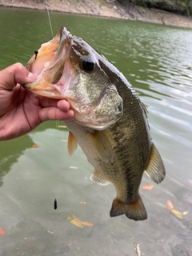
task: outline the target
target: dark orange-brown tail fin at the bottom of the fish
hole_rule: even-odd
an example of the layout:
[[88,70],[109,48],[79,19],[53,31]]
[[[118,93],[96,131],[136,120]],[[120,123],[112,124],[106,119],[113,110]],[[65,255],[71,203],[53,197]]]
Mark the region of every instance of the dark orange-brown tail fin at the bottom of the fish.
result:
[[127,218],[133,219],[134,221],[142,221],[147,218],[146,208],[142,202],[142,198],[138,195],[138,199],[135,202],[126,204],[118,198],[114,198],[110,210],[110,217],[126,214]]

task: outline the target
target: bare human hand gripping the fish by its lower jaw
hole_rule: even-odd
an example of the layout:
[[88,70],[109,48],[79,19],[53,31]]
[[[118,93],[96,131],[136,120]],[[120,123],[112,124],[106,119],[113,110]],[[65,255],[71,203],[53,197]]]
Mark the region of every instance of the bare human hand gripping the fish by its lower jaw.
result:
[[20,63],[0,71],[0,141],[22,136],[47,120],[73,118],[66,100],[38,96],[21,86],[36,79]]

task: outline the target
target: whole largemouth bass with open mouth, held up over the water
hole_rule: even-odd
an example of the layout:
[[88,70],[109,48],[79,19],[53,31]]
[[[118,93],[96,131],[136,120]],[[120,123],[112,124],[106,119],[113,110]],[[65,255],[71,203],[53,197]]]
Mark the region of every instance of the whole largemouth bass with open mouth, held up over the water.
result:
[[94,171],[90,180],[116,190],[110,217],[147,218],[139,194],[144,172],[157,184],[165,166],[150,136],[146,106],[125,76],[82,38],[61,27],[43,43],[26,68],[38,79],[23,85],[36,94],[66,99],[74,118],[68,153],[79,145]]

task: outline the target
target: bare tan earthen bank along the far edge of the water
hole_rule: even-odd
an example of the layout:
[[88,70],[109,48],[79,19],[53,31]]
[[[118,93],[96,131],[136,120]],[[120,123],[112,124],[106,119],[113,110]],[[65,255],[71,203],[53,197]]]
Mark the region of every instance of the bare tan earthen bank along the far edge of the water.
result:
[[[83,14],[105,18],[120,18],[131,21],[150,22],[167,26],[192,29],[192,18],[157,9],[147,9],[133,4],[120,4],[114,0],[47,0],[50,11],[68,14]],[[46,10],[46,1],[0,0],[0,6]]]

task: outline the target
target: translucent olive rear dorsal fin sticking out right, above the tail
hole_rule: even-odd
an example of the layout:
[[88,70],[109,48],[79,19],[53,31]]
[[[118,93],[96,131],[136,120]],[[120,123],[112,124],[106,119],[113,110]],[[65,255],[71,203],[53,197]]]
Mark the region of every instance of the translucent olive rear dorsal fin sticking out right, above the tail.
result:
[[145,172],[157,184],[159,182],[162,182],[162,180],[166,176],[165,166],[154,144],[151,146],[150,160],[148,162],[148,166],[146,167]]

